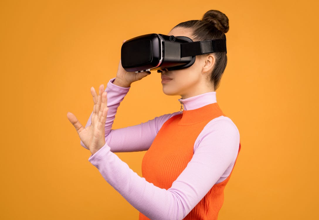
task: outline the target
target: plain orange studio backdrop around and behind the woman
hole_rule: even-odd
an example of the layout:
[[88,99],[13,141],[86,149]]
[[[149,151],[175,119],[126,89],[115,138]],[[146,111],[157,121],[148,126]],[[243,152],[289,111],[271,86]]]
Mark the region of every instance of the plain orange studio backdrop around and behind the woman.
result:
[[[219,219],[314,219],[317,1],[1,1],[1,219],[138,219],[100,175],[66,114],[116,76],[123,40],[167,34],[211,9],[229,18],[216,90],[241,135]],[[316,64],[317,63],[317,64]],[[134,82],[113,129],[180,110],[160,74]],[[317,147],[316,147],[317,146]],[[146,151],[116,153],[140,176]]]

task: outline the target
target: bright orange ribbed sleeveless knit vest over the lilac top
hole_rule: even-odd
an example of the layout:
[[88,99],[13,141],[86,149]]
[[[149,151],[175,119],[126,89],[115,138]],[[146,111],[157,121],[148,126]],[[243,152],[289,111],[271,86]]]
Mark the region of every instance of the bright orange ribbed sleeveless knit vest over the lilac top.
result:
[[[221,115],[226,116],[215,102],[194,110],[184,110],[182,114],[169,118],[143,157],[143,177],[155,186],[169,189],[192,159],[199,133],[208,122]],[[239,144],[238,152],[240,149]],[[184,219],[216,220],[224,202],[224,188],[233,170],[224,181],[215,184]],[[140,212],[139,220],[149,218]]]

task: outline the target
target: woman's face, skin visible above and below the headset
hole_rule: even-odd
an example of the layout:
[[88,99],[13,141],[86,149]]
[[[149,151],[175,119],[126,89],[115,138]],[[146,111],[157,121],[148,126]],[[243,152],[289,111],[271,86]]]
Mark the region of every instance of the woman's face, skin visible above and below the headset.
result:
[[[189,28],[176,27],[167,35],[191,37],[192,30]],[[161,75],[165,75],[172,80],[162,80],[163,92],[166,95],[181,95],[182,99],[186,99],[205,92],[214,91],[213,86],[209,83],[208,72],[203,69],[207,56],[196,56],[195,63],[188,68],[181,70],[160,69]],[[215,59],[213,59],[215,61]],[[211,72],[211,71],[210,71]]]

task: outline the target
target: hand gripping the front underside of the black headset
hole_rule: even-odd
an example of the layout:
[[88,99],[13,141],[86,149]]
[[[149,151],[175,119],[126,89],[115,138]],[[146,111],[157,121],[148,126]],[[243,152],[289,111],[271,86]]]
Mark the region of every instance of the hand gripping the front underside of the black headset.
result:
[[[124,43],[126,40],[124,40],[122,43]],[[118,70],[116,73],[116,78],[113,83],[122,85],[122,87],[130,87],[132,82],[135,82],[137,80],[141,80],[145,76],[148,76],[151,74],[151,71],[147,72],[126,72],[124,68],[122,67],[122,60],[120,59],[120,63],[118,66]],[[115,82],[116,81],[116,82]]]

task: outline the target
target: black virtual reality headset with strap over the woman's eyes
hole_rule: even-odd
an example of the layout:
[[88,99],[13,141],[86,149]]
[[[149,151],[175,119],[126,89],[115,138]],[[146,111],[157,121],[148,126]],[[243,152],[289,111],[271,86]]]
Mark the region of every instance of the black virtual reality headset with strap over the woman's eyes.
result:
[[196,55],[226,52],[226,39],[193,42],[185,36],[145,34],[125,41],[122,66],[127,72],[179,70],[194,64]]

